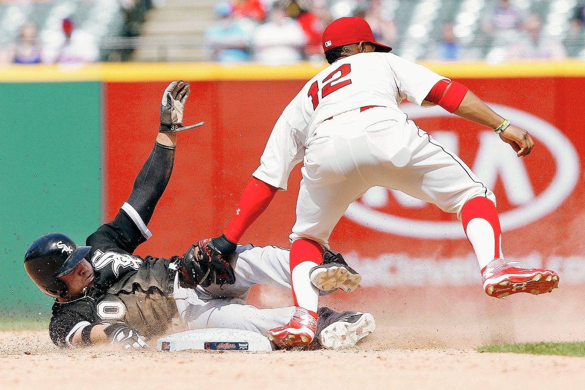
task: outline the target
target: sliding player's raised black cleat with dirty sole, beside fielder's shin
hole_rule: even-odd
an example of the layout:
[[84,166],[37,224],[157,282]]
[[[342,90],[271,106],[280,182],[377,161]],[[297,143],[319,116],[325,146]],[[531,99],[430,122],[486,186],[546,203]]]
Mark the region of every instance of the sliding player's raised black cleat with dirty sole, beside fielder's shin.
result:
[[311,283],[321,291],[342,289],[352,292],[360,287],[362,275],[347,265],[339,252],[327,250],[323,253],[323,263],[309,271]]

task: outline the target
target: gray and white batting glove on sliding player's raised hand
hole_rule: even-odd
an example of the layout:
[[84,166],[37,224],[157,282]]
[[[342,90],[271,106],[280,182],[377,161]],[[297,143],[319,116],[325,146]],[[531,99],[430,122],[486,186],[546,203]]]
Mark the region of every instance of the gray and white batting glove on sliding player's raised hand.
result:
[[164,90],[163,99],[160,102],[159,132],[180,132],[199,127],[205,123],[199,122],[196,125],[183,127],[185,101],[190,93],[189,83],[183,80],[171,82]]

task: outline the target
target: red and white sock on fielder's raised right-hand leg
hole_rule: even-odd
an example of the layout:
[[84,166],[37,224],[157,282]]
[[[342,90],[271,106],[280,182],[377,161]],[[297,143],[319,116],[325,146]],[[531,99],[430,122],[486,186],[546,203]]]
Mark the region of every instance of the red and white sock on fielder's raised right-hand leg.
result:
[[469,199],[461,210],[461,222],[483,273],[490,261],[502,257],[500,218],[494,203],[481,196]]

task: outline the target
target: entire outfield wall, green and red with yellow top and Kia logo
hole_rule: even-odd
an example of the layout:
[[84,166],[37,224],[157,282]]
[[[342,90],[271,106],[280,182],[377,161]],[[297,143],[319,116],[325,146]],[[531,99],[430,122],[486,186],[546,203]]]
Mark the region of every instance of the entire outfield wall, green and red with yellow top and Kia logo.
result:
[[[441,108],[404,106],[494,189],[507,260],[553,267],[563,284],[585,282],[585,202],[579,191],[583,63],[427,65],[467,85],[535,139],[532,154],[518,159],[490,130]],[[152,149],[161,92],[170,80],[191,83],[185,123],[206,124],[179,134],[174,174],[149,226],[154,236],[137,250],[141,255],[182,254],[195,240],[225,229],[273,123],[320,69],[96,64],[3,70],[0,109],[8,143],[0,154],[6,199],[0,207],[8,217],[0,226],[2,317],[48,312],[49,300],[22,268],[26,247],[56,230],[82,244],[115,215]],[[297,167],[288,191],[276,195],[242,242],[288,246],[299,180]],[[386,189],[374,188],[353,203],[331,243],[356,264],[364,287],[467,286],[480,280],[454,216]]]

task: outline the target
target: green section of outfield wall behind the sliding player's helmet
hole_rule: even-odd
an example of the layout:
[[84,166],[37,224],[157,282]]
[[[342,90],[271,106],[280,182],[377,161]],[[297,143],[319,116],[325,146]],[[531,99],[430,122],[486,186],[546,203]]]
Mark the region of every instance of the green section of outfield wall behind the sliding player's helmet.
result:
[[0,322],[50,310],[22,265],[32,241],[61,231],[81,244],[101,225],[100,89],[97,81],[0,84]]

